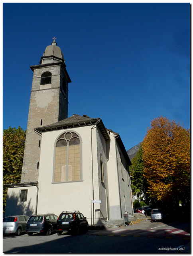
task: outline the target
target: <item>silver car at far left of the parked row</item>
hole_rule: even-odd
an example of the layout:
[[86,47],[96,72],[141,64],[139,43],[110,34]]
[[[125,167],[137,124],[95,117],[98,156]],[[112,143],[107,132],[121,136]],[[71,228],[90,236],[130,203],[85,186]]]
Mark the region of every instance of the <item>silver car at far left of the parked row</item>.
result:
[[15,215],[3,219],[3,234],[20,234],[26,231],[26,222],[29,217],[26,215]]

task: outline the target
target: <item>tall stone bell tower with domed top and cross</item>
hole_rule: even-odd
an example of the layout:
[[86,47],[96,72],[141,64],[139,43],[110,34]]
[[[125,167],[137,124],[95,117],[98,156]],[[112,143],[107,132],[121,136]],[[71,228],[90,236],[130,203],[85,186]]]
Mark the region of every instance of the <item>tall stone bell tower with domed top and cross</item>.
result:
[[21,183],[38,181],[41,137],[34,128],[68,117],[68,83],[71,79],[55,39],[46,47],[39,65],[30,66],[33,81]]

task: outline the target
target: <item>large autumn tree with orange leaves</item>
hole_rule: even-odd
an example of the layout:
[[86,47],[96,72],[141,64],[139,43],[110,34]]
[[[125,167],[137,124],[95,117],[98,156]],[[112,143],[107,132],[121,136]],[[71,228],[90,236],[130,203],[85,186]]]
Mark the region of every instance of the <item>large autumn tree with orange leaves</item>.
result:
[[160,116],[142,142],[144,177],[158,202],[190,200],[190,131]]

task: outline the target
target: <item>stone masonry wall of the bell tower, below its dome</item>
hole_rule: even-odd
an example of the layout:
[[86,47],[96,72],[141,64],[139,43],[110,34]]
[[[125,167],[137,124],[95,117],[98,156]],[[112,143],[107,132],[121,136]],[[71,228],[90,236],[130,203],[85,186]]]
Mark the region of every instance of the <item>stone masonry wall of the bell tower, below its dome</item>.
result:
[[[41,74],[45,71],[52,74],[51,84],[41,86]],[[33,72],[21,183],[38,181],[41,136],[34,132],[34,128],[58,122],[59,112],[67,118],[67,100],[60,93],[61,77],[60,65],[46,68],[39,65]]]

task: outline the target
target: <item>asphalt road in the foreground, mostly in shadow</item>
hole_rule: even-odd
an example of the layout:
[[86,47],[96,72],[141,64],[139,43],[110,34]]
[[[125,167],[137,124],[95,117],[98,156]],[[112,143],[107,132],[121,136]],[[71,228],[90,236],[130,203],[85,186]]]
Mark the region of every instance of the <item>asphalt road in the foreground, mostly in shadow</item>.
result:
[[[163,254],[179,252],[178,246],[181,246],[181,252],[185,252],[190,242],[189,228],[190,224],[187,222],[169,225],[143,222],[124,228],[89,230],[79,236],[71,236],[68,233],[63,233],[61,236],[5,235],[3,253]],[[151,230],[156,230],[156,235]],[[165,230],[170,230],[173,234]]]

